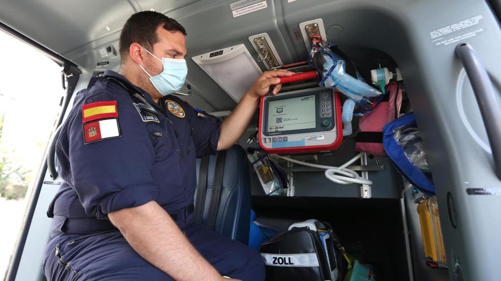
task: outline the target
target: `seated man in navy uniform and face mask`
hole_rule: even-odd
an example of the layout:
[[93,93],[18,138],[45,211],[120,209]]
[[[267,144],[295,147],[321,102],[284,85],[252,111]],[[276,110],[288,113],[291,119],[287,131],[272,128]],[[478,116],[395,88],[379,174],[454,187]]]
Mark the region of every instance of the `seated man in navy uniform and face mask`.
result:
[[120,73],[77,93],[57,141],[65,183],[48,210],[48,280],[264,280],[259,253],[193,223],[195,158],[235,143],[292,73],[265,72],[221,123],[171,95],[187,73],[185,35],[161,13],[133,14]]

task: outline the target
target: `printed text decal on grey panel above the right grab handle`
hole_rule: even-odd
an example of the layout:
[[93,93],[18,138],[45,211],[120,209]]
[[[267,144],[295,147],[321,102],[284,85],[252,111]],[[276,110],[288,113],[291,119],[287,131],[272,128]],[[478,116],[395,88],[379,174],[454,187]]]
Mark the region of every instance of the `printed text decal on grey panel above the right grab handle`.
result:
[[430,38],[435,46],[445,46],[476,36],[476,34],[484,31],[484,29],[483,16],[479,14],[433,30],[430,32]]

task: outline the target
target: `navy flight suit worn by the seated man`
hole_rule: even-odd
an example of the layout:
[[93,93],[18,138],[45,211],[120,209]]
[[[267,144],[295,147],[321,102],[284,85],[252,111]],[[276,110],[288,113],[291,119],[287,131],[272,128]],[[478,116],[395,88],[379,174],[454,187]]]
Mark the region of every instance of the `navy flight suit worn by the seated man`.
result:
[[[141,110],[148,103],[158,115]],[[155,200],[221,275],[264,280],[258,252],[193,223],[195,158],[215,153],[219,132],[217,118],[176,96],[157,104],[116,72],[93,77],[77,93],[57,140],[65,182],[48,210],[53,223],[43,265],[47,279],[172,280],[107,218],[109,212]]]

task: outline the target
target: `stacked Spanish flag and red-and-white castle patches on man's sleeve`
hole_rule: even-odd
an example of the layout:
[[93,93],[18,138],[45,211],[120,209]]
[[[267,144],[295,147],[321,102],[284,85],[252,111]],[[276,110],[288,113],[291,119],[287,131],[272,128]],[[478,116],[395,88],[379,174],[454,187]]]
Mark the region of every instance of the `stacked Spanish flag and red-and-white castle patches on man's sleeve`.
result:
[[84,144],[121,135],[117,101],[99,101],[82,105]]

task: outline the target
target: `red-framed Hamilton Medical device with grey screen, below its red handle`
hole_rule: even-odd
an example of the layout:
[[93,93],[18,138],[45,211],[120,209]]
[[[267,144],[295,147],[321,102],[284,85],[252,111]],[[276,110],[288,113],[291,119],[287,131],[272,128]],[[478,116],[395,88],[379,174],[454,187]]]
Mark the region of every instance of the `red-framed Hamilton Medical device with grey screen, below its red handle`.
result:
[[339,93],[318,87],[263,96],[259,124],[269,153],[333,150],[343,141]]

